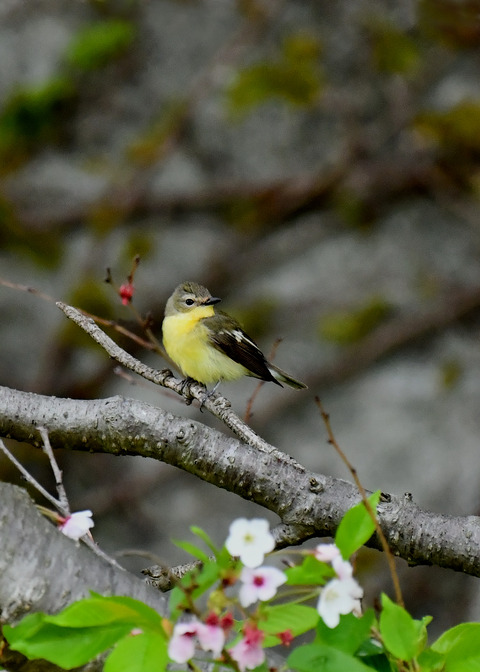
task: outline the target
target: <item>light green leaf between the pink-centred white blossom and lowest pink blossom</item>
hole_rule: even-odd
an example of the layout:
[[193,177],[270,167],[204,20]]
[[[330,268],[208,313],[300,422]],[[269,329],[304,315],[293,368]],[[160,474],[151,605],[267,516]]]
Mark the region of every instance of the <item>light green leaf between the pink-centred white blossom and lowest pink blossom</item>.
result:
[[[318,620],[319,615],[313,607],[306,607],[303,604],[279,604],[273,607],[265,606],[261,612],[259,628],[267,635],[277,635],[279,632],[291,630],[292,635],[297,637],[308,630],[312,630]],[[278,638],[265,641],[266,646],[276,646]]]

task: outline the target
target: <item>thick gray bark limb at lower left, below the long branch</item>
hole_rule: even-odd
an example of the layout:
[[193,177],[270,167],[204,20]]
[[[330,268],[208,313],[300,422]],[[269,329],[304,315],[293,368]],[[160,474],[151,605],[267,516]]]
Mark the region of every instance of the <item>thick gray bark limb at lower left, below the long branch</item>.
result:
[[0,483],[0,609],[10,623],[28,611],[60,611],[88,596],[128,595],[166,614],[144,581],[76,544],[37,511],[25,490]]

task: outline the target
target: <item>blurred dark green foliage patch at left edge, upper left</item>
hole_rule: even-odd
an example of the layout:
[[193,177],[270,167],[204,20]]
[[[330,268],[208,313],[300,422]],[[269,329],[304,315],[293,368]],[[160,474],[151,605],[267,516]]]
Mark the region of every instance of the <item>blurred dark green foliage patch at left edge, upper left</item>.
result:
[[21,163],[42,143],[61,136],[60,122],[75,95],[68,77],[56,77],[10,94],[0,112],[1,172]]

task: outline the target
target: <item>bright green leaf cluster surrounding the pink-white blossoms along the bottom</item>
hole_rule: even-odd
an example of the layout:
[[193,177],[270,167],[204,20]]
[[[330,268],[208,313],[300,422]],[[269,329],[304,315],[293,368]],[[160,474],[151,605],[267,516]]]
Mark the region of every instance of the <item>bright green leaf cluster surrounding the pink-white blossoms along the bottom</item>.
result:
[[[369,498],[372,509],[380,493]],[[366,506],[360,502],[343,518],[335,543],[344,558],[356,552],[374,531],[375,525]],[[63,612],[50,616],[30,614],[16,627],[5,626],[4,635],[12,649],[29,658],[44,658],[70,669],[83,665],[110,650],[106,672],[159,672],[168,665],[168,640],[173,624],[186,614],[202,617],[199,602],[210,591],[207,609],[222,613],[231,608],[228,591],[241,569],[241,563],[226,549],[217,548],[200,528],[192,528],[213,556],[191,542],[176,542],[199,560],[175,586],[170,596],[170,620],[159,616],[145,604],[126,597],[102,597],[92,593]],[[332,568],[305,553],[299,565],[286,570],[287,590],[323,586],[334,574]],[[213,590],[211,590],[213,588]],[[300,593],[301,594],[301,593]],[[329,628],[317,610],[301,604],[302,598],[284,595],[282,603],[259,604],[253,614],[265,633],[264,646],[281,642],[279,633],[293,638],[310,633],[310,642],[294,647],[287,659],[290,669],[298,672],[466,672],[480,666],[480,624],[465,623],[445,632],[431,646],[427,643],[429,616],[414,619],[406,609],[381,596],[379,613],[367,609],[363,615],[341,616],[336,628]],[[234,632],[242,630],[238,620]],[[234,635],[235,637],[235,635]],[[224,658],[224,666],[238,669]],[[263,664],[258,670],[267,670]]]

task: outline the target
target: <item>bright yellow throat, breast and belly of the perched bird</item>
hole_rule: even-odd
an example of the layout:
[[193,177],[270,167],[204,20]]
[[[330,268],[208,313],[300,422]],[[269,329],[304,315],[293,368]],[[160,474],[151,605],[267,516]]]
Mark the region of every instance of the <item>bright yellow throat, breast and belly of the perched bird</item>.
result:
[[163,320],[163,345],[184,376],[204,385],[248,374],[244,366],[211,345],[202,320],[192,319],[188,314],[171,315]]

